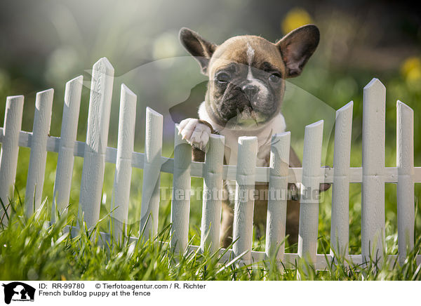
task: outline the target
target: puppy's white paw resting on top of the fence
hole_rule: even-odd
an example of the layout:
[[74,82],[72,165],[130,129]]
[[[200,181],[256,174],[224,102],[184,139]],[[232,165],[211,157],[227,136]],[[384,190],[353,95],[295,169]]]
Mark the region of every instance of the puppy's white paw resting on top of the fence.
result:
[[178,125],[178,133],[193,147],[201,149],[206,152],[206,145],[208,145],[210,127],[202,124],[199,119],[187,118]]

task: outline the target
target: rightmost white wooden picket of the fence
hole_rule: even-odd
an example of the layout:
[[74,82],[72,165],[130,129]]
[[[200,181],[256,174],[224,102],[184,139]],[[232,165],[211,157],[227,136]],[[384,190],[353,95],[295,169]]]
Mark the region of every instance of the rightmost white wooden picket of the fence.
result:
[[398,251],[402,265],[406,259],[406,251],[414,246],[414,114],[413,109],[399,100],[396,111]]

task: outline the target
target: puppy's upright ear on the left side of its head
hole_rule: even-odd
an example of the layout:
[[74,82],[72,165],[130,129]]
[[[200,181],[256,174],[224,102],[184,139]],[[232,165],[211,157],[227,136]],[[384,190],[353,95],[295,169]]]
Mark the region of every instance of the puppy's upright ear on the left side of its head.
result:
[[201,72],[207,74],[209,60],[217,46],[187,27],[180,29],[179,36],[182,46],[199,62]]

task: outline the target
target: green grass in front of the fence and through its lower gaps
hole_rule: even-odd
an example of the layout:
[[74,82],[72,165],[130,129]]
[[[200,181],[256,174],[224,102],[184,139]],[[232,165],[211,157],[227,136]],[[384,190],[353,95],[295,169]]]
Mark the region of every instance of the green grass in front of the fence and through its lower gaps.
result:
[[[361,165],[361,145],[352,146],[354,153],[351,165]],[[142,152],[142,149],[139,149]],[[389,150],[388,152],[391,152]],[[170,156],[168,152],[165,156]],[[387,162],[392,166],[394,154],[387,154]],[[22,213],[20,194],[25,194],[29,149],[21,148],[19,154],[18,174],[16,178],[14,213],[10,216],[10,226],[0,229],[0,279],[142,279],[142,280],[229,280],[229,279],[302,279],[337,280],[337,279],[420,279],[419,268],[415,265],[415,254],[421,253],[420,241],[415,251],[408,255],[403,267],[395,266],[392,270],[375,270],[375,263],[361,270],[361,267],[337,262],[327,271],[314,272],[302,265],[295,269],[281,271],[276,265],[258,262],[246,267],[236,265],[238,262],[218,263],[218,254],[186,253],[181,258],[175,255],[168,244],[156,241],[169,241],[171,192],[166,192],[167,199],[161,199],[159,209],[159,237],[146,244],[128,244],[123,241],[95,243],[87,232],[80,232],[74,237],[65,234],[65,226],[74,223],[77,215],[79,187],[83,159],[76,158],[72,178],[72,192],[67,219],[60,218],[57,224],[50,225],[51,197],[55,179],[57,154],[48,153],[46,178],[44,183],[44,204],[38,218],[25,218]],[[326,157],[326,164],[331,164],[331,155]],[[107,164],[100,218],[96,230],[109,231],[109,213],[114,165]],[[172,175],[161,173],[161,187],[172,185]],[[192,188],[203,185],[200,178],[192,178]],[[420,237],[421,189],[415,185],[415,237]],[[19,194],[19,192],[20,194]],[[107,194],[107,197],[104,195]],[[133,169],[131,199],[129,205],[129,223],[131,235],[138,236],[140,199],[142,194],[142,170]],[[318,253],[329,253],[331,189],[323,194],[319,206],[319,241]],[[105,199],[106,198],[106,199]],[[386,212],[386,254],[397,254],[397,218],[396,218],[396,185],[385,187]],[[201,197],[192,196],[189,218],[190,244],[200,244]],[[351,184],[349,189],[349,253],[361,253],[361,184]],[[97,241],[98,242],[98,241]],[[286,245],[287,253],[295,253],[296,246]],[[265,250],[265,237],[253,238],[253,251]],[[229,263],[229,265],[228,265]],[[305,276],[304,270],[310,271]]]

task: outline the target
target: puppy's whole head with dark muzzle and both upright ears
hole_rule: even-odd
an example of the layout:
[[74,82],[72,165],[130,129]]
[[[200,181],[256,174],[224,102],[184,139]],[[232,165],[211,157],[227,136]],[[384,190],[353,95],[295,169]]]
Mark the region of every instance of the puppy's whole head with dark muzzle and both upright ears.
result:
[[298,76],[319,44],[319,29],[305,25],[280,41],[234,36],[217,46],[191,29],[180,41],[209,77],[208,115],[221,126],[255,128],[279,113],[285,79]]

